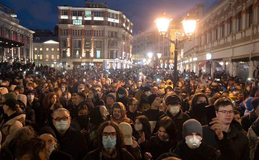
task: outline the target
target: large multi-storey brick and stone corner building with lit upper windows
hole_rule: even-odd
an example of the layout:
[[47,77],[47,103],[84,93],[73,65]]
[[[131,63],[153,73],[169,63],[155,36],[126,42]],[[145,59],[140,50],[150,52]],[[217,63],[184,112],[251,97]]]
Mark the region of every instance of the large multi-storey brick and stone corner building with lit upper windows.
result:
[[85,1],[85,8],[58,7],[57,25],[63,68],[133,66],[133,24],[122,12],[101,2]]

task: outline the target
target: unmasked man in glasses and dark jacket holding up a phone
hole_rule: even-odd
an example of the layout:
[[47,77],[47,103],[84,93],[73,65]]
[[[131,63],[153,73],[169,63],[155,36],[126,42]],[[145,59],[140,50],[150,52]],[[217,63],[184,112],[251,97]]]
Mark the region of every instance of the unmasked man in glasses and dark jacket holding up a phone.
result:
[[[229,143],[234,144],[233,147],[239,151],[239,159],[249,159],[249,141],[247,136],[242,132],[242,125],[238,121],[233,120],[233,103],[228,98],[219,98],[214,105],[216,115],[223,123],[222,131],[227,133]],[[204,142],[207,145],[220,149],[215,140],[215,132],[210,129],[211,127],[206,125],[202,128]]]

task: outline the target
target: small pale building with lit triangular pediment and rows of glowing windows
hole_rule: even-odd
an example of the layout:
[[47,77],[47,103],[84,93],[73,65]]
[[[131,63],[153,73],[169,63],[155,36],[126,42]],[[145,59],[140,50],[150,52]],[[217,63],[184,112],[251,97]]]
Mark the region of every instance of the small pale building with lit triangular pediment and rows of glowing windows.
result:
[[33,56],[36,66],[48,65],[56,70],[61,69],[59,61],[58,37],[35,36],[33,37]]

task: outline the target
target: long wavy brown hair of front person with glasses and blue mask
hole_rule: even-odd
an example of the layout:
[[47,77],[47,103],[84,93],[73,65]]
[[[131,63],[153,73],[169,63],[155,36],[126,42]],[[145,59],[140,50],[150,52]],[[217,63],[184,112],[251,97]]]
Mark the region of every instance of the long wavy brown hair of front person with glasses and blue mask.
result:
[[121,131],[121,128],[118,126],[117,123],[111,122],[111,121],[104,121],[104,123],[102,123],[101,126],[99,126],[99,128],[96,131],[95,136],[93,137],[94,145],[99,150],[102,149],[102,147],[103,147],[103,144],[102,144],[102,140],[103,140],[102,132],[104,131],[104,128],[106,126],[112,126],[113,128],[115,128],[115,131],[117,133],[115,148],[117,150],[123,148],[124,145],[125,145],[125,143],[124,143],[124,133]]

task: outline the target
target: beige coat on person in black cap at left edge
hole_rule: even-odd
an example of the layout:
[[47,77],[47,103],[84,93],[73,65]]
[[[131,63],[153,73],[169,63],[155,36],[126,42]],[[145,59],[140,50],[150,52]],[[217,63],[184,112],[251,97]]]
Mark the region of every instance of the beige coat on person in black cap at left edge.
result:
[[21,114],[16,117],[13,117],[12,119],[8,120],[6,123],[2,121],[1,132],[2,132],[2,135],[6,136],[6,138],[1,148],[8,149],[8,145],[10,141],[13,139],[16,131],[18,131],[20,128],[23,127],[22,122],[24,121],[25,121],[25,114]]

